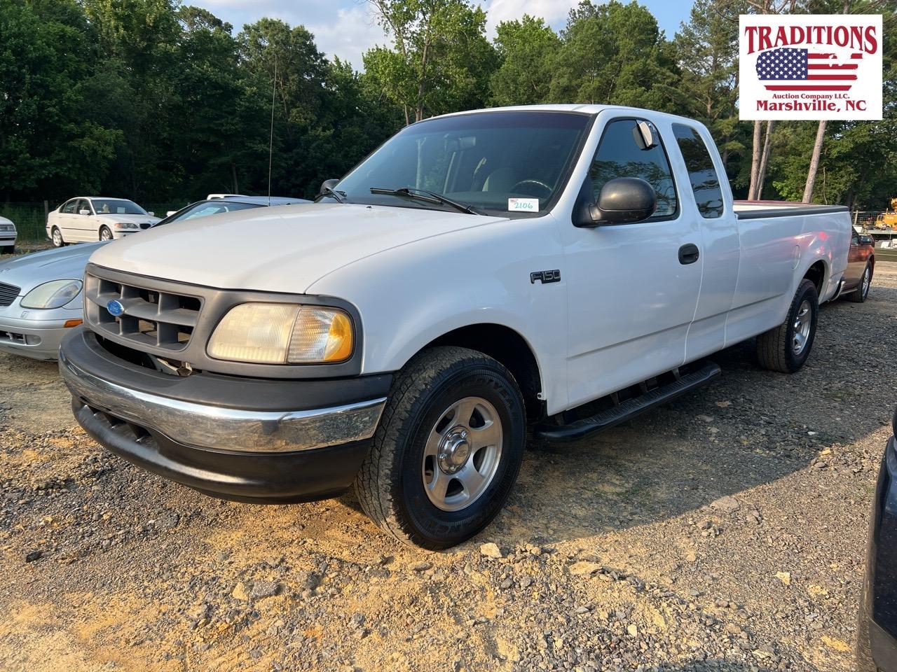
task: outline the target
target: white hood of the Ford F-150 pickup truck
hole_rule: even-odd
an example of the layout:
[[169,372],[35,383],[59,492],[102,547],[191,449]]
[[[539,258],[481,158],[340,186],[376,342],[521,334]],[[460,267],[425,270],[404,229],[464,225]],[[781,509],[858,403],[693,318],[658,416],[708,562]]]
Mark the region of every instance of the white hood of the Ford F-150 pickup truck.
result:
[[303,294],[346,264],[506,218],[353,203],[283,205],[164,224],[91,263],[217,289]]

